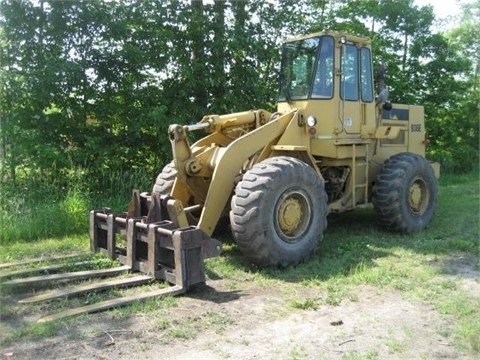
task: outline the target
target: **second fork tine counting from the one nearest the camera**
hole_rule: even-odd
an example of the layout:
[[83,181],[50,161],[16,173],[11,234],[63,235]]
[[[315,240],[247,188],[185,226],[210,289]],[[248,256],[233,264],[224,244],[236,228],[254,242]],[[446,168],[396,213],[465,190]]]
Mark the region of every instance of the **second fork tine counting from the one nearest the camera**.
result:
[[142,285],[146,284],[150,280],[152,280],[152,277],[147,275],[137,275],[129,278],[105,280],[102,282],[73,286],[66,289],[64,288],[46,291],[44,293],[19,300],[18,302],[21,304],[30,304],[39,301],[52,300],[63,296],[81,294],[88,291],[101,291],[115,287]]

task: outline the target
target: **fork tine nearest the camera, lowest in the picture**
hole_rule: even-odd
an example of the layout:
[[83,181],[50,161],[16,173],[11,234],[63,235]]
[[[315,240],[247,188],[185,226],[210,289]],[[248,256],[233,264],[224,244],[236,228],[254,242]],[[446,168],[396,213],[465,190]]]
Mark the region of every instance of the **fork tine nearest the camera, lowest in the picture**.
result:
[[107,300],[107,301],[102,301],[96,304],[91,304],[91,305],[86,305],[86,306],[81,306],[73,309],[68,309],[65,311],[61,311],[55,314],[47,315],[44,316],[40,319],[37,320],[39,323],[44,323],[48,321],[54,321],[54,320],[59,320],[63,319],[66,317],[74,316],[74,315],[80,315],[80,314],[87,314],[87,313],[93,313],[93,312],[98,312],[98,311],[103,311],[103,310],[108,310],[112,309],[115,307],[120,307],[127,305],[133,301],[139,301],[139,300],[144,300],[152,297],[163,297],[163,296],[169,296],[169,295],[178,295],[182,294],[187,291],[187,288],[182,288],[180,286],[171,286],[168,288],[160,289],[160,290],[154,290],[146,293],[141,293],[141,294],[136,294],[136,295],[131,295],[131,296],[125,296],[117,299],[112,299],[112,300]]

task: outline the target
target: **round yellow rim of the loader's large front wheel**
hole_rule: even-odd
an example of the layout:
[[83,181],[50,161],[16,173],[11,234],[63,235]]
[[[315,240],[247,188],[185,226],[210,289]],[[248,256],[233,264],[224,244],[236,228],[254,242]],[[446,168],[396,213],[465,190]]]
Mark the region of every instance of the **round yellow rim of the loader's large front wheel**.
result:
[[287,243],[296,243],[304,234],[312,215],[312,207],[306,193],[298,189],[287,190],[275,206],[275,228]]

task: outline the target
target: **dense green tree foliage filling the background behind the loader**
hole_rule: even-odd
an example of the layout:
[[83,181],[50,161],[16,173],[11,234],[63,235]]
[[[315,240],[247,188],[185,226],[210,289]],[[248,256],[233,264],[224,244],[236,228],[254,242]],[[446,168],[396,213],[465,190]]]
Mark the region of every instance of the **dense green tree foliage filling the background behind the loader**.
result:
[[2,182],[78,168],[153,175],[171,158],[169,124],[274,109],[280,42],[329,29],[372,38],[391,100],[425,106],[432,159],[446,171],[478,167],[478,1],[447,34],[411,0],[0,6]]

